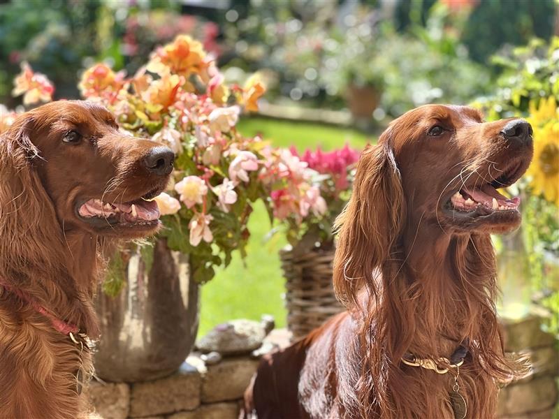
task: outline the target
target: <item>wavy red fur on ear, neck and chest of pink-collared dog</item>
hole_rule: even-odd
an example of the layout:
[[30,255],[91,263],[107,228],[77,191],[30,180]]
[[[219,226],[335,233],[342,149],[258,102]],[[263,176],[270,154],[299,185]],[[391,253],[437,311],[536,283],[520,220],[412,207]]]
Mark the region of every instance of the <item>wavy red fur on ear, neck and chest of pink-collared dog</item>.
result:
[[[86,409],[76,374],[92,370],[89,354],[8,289],[98,334],[90,295],[71,275],[55,209],[34,169],[41,159],[29,139],[34,129],[31,112],[0,137],[0,417],[78,418]],[[92,281],[95,273],[84,270]]]

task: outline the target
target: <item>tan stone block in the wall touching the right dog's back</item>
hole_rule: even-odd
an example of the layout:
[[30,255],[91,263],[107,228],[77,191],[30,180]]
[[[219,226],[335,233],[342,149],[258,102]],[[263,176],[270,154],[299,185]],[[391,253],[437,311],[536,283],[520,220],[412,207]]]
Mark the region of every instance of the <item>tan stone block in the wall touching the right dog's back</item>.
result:
[[242,398],[259,361],[249,358],[225,358],[207,366],[202,381],[202,402],[225,402]]

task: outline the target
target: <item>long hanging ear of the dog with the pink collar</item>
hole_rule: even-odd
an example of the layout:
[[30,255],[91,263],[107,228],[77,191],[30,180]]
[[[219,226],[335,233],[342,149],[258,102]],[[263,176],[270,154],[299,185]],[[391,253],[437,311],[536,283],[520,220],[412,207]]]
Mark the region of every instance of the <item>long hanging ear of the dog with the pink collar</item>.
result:
[[50,254],[47,247],[59,236],[52,201],[34,168],[41,156],[33,131],[33,117],[24,114],[0,137],[0,272],[6,275],[39,263],[38,255]]

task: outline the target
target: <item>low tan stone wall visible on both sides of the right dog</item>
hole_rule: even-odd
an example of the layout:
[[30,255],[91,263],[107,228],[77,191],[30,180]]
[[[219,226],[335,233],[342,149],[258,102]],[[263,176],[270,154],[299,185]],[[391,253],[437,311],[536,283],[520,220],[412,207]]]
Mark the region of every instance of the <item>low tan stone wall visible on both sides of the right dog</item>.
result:
[[[498,417],[502,419],[552,418],[558,400],[558,352],[551,335],[539,328],[541,319],[505,322],[507,351],[532,357],[530,374],[501,390]],[[280,330],[275,330],[281,334]],[[279,335],[276,335],[279,336]],[[284,346],[282,341],[275,344]],[[224,358],[205,365],[198,355],[187,358],[172,376],[144,383],[92,383],[89,398],[96,418],[126,419],[236,419],[243,392],[258,360]],[[95,416],[94,416],[95,417]]]

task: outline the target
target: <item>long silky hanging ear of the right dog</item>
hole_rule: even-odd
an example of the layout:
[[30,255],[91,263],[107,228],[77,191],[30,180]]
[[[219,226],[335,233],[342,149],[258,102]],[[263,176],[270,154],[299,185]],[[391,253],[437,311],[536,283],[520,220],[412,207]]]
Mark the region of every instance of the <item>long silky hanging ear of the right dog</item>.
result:
[[334,258],[334,289],[347,307],[358,304],[367,286],[378,297],[375,272],[389,260],[405,217],[400,170],[393,152],[391,129],[361,154],[349,203],[337,217],[339,233]]

